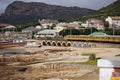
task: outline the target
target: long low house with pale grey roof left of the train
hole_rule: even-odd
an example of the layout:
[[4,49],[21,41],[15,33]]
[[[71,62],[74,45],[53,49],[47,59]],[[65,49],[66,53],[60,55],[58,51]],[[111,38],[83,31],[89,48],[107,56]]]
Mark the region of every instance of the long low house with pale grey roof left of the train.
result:
[[34,36],[35,36],[35,38],[38,38],[38,37],[55,37],[58,35],[59,35],[59,33],[57,32],[57,30],[46,29],[46,30],[39,31]]

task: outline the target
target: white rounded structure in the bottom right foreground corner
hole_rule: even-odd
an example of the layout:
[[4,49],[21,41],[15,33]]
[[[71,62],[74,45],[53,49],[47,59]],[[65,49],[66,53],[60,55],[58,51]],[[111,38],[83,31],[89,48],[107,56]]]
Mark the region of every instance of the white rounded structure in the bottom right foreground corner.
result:
[[99,59],[99,80],[120,80],[120,57]]

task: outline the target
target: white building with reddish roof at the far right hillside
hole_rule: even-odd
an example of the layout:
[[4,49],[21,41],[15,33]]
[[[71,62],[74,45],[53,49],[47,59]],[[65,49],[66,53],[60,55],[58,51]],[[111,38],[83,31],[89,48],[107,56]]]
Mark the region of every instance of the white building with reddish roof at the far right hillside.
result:
[[106,18],[105,21],[109,22],[109,28],[120,27],[120,17],[110,17]]

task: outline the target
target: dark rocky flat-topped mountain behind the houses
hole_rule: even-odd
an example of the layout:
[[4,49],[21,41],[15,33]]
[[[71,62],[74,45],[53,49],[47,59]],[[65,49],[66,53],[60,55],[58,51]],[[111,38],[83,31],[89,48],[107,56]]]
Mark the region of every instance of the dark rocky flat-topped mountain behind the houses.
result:
[[68,20],[88,15],[95,10],[65,7],[58,5],[49,5],[37,2],[22,2],[14,1],[5,10],[5,13],[0,16],[0,22],[21,24],[35,22],[38,19],[57,19]]

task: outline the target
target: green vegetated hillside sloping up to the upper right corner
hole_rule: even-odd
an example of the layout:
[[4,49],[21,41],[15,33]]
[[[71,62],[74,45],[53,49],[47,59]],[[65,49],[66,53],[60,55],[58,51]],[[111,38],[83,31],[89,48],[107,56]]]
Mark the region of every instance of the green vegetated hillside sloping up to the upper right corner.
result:
[[79,20],[86,20],[89,18],[98,18],[101,20],[105,20],[105,18],[107,18],[108,16],[120,16],[120,0],[117,0],[112,4],[101,8],[95,13],[84,16]]

